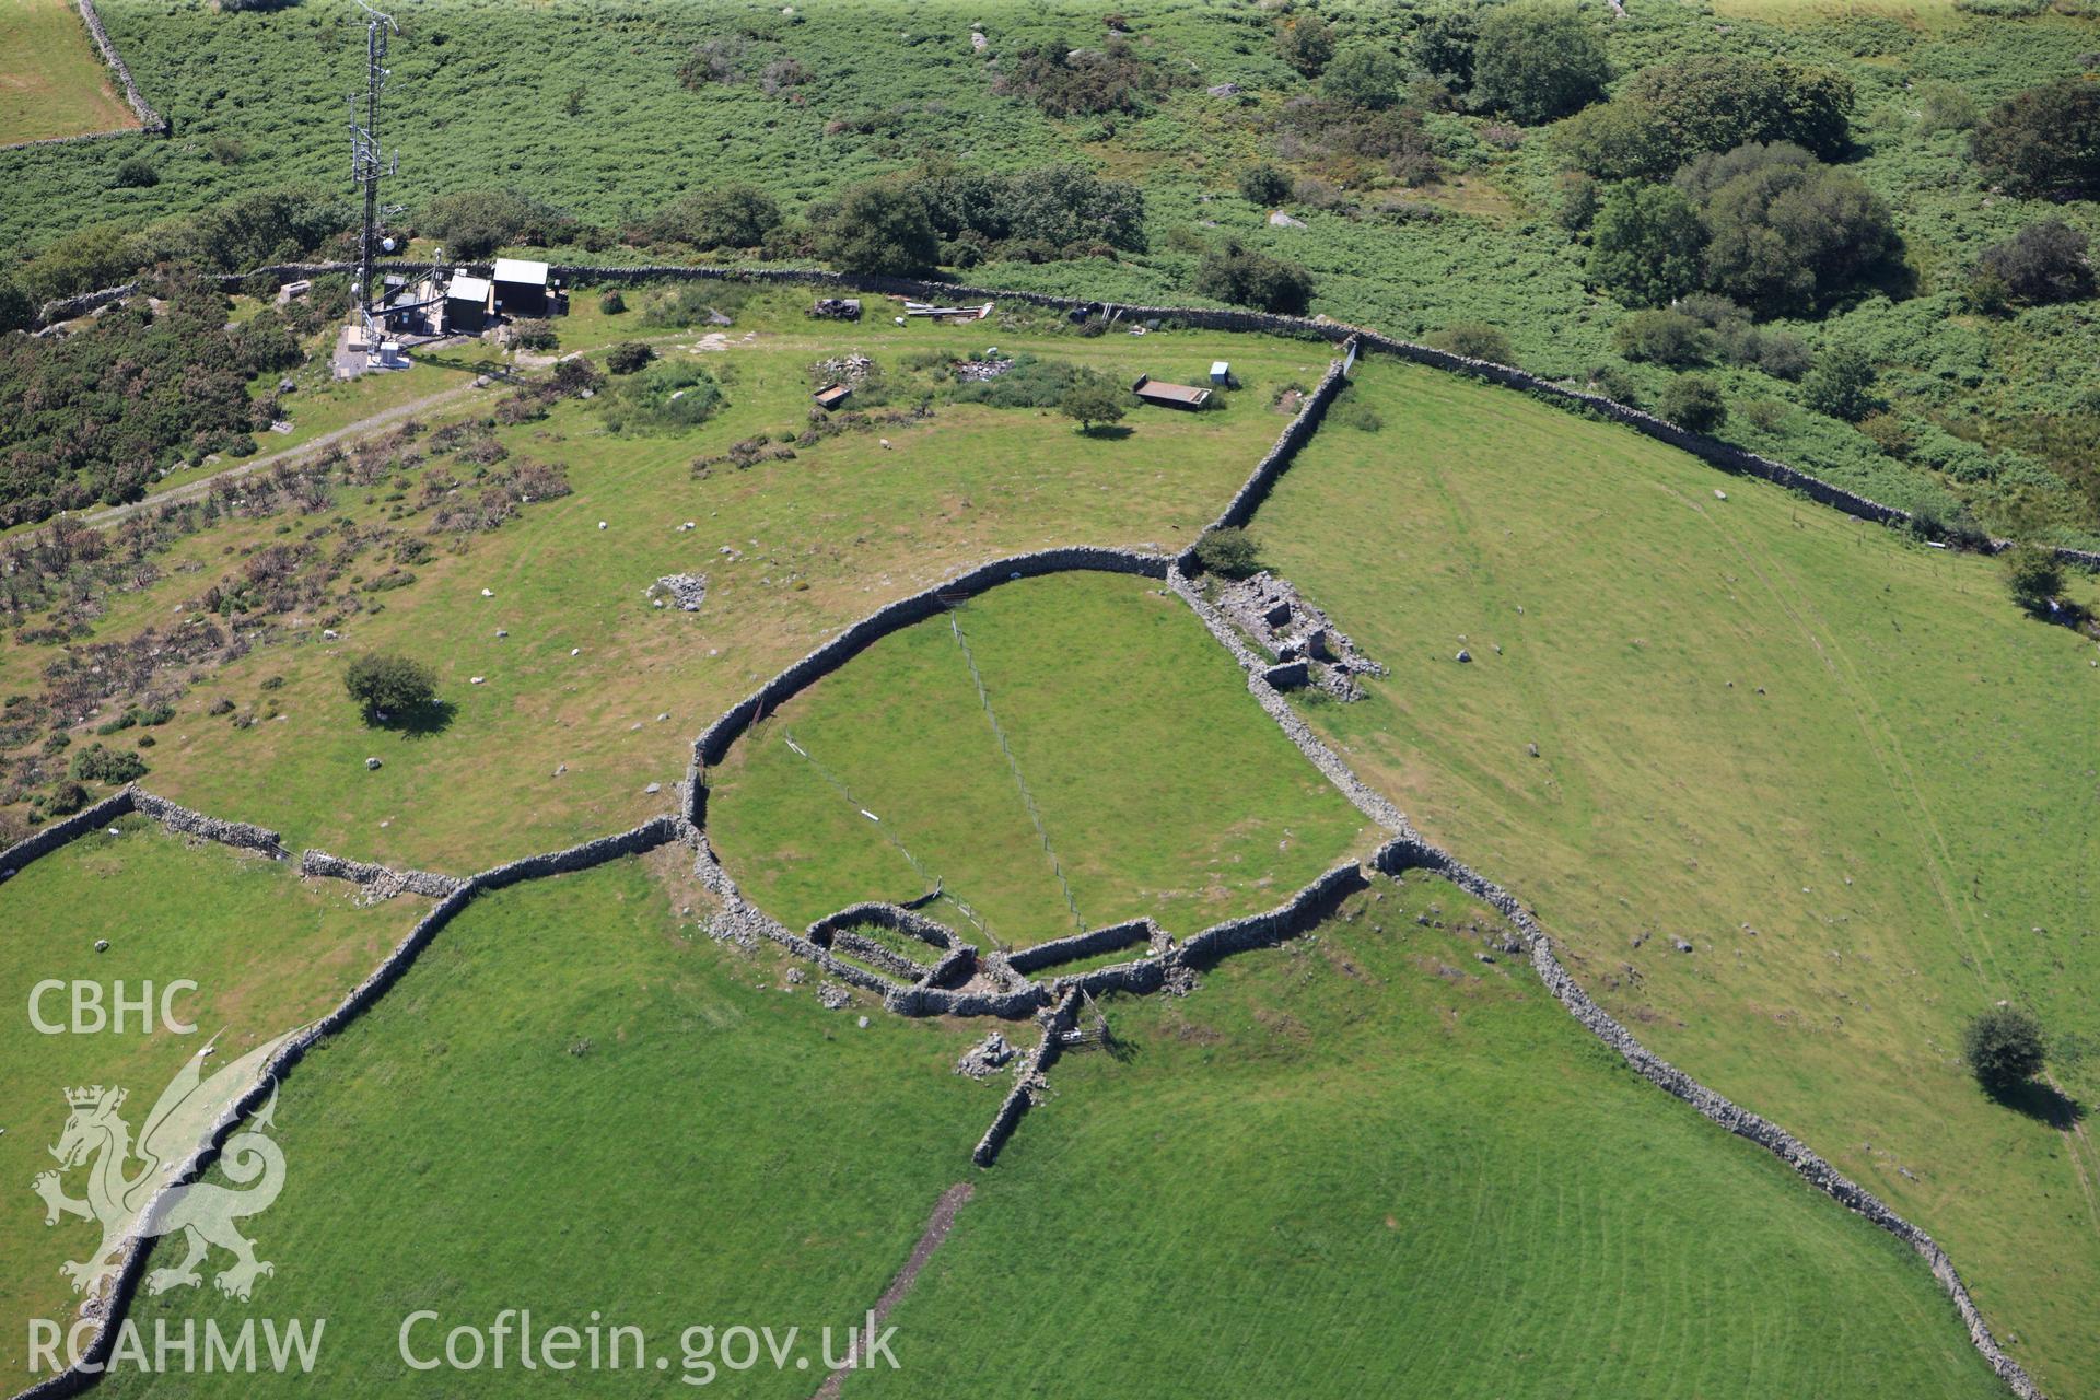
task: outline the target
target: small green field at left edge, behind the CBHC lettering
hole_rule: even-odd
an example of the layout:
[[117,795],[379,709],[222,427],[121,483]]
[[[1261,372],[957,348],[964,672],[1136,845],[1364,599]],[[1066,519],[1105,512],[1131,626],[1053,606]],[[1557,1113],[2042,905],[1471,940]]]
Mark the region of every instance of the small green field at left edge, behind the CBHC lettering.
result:
[[[237,856],[225,846],[187,848],[141,816],[120,823],[124,835],[88,835],[44,856],[0,886],[0,1062],[8,1066],[0,1098],[0,1362],[8,1375],[25,1364],[25,1318],[67,1318],[74,1299],[59,1264],[92,1247],[92,1230],[65,1219],[44,1226],[44,1205],[29,1180],[52,1163],[44,1148],[65,1125],[63,1091],[113,1083],[130,1091],[126,1119],[136,1131],[183,1060],[218,1033],[218,1062],[304,1024],[342,999],[363,978],[426,900],[399,898],[355,909],[351,886],[304,884],[284,865]],[[97,953],[94,940],[109,951]],[[126,1022],[122,1035],[42,1035],[29,1024],[29,989],[46,978],[94,980],[105,1003],[124,982],[136,999],[143,982],[160,989],[176,978],[197,982],[174,1012],[195,1035],[151,1035]],[[67,993],[48,993],[44,1020],[67,1020]],[[67,1188],[78,1196],[78,1173]],[[10,1387],[15,1390],[15,1387]]]

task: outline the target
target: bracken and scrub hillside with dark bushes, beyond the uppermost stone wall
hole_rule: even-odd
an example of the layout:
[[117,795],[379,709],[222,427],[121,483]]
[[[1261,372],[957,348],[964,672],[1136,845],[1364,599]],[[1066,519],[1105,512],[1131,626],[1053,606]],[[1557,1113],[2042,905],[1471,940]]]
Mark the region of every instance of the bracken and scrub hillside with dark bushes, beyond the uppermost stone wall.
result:
[[[830,258],[1413,336],[1493,325],[1525,367],[1642,403],[1703,374],[1730,437],[1957,535],[2092,544],[2083,8],[1163,0],[1115,25],[1052,6],[878,27],[477,4],[397,44],[418,118],[395,128],[395,189],[405,231],[468,254]],[[4,277],[40,300],[166,248],[235,267],[326,243],[340,222],[250,208],[235,222],[256,237],[227,237],[212,210],[340,178],[330,141],[294,139],[338,120],[330,4],[107,10],[178,134],[0,155],[21,248]],[[542,55],[529,82],[487,80],[523,52]],[[153,181],[124,176],[141,157]],[[1042,170],[1060,174],[1016,178]],[[2029,233],[2048,222],[2064,233]],[[1701,290],[1737,306],[1714,363],[1619,353],[1628,315]],[[1873,411],[1806,393],[1804,359],[1831,353],[1867,363]]]

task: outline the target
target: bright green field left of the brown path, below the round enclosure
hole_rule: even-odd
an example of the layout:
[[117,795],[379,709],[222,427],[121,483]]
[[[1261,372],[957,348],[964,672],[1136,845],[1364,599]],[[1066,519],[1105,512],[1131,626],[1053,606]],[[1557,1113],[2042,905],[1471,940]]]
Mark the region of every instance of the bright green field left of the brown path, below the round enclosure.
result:
[[[472,905],[286,1081],[286,1190],[256,1219],[277,1274],[254,1306],[187,1291],[134,1312],[147,1329],[328,1318],[315,1375],[132,1375],[101,1394],[519,1383],[514,1364],[412,1375],[397,1329],[418,1308],[445,1327],[485,1327],[500,1308],[584,1324],[596,1310],[659,1345],[701,1322],[857,1320],[970,1171],[998,1089],[947,1073],[968,1031],[882,1014],[857,1028],[808,989],[769,989],[773,972],[695,945],[632,861]],[[762,1394],[813,1387],[737,1379],[739,1394],[746,1379]],[[586,1390],[664,1385],[626,1373]]]

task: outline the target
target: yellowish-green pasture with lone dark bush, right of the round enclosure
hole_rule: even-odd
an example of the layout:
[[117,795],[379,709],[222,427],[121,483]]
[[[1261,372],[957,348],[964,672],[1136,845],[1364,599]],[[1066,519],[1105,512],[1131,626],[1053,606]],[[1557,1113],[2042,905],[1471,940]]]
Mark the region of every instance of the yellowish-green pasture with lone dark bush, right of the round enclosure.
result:
[[1984,1100],[1957,1037],[2010,997],[2100,1089],[2100,653],[1991,563],[1630,432],[1382,361],[1357,393],[1384,430],[1323,432],[1256,521],[1392,667],[1315,722],[1651,1045],[1930,1228],[2052,1394],[2092,1394],[2100,1154]]

